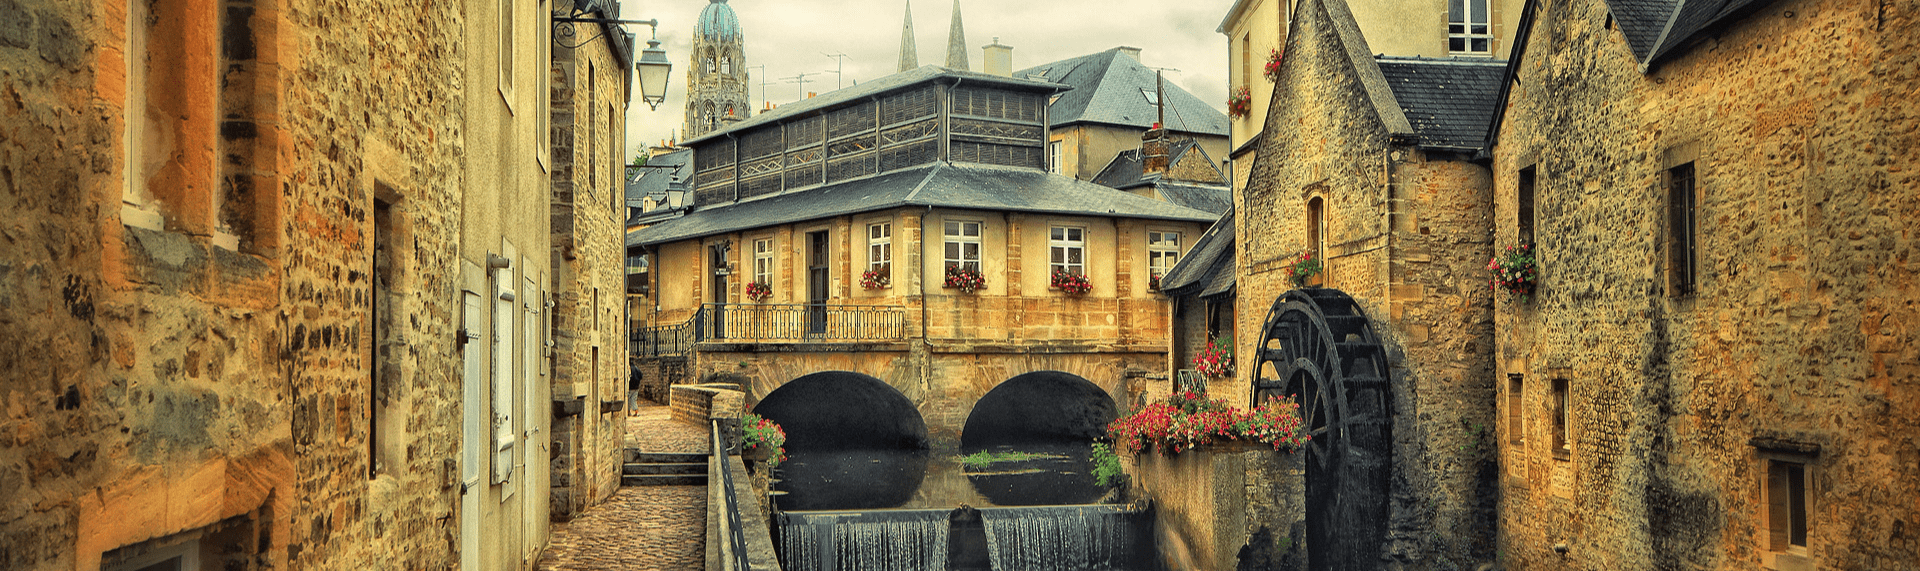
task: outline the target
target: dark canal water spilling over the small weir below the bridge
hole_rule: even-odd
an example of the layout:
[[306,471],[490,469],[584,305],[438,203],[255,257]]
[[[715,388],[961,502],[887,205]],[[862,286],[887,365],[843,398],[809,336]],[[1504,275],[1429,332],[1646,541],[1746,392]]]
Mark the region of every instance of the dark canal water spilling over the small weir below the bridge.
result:
[[795,450],[776,473],[783,569],[1156,571],[1152,513],[1116,504],[1091,442],[985,446],[1029,459],[968,467],[927,450]]

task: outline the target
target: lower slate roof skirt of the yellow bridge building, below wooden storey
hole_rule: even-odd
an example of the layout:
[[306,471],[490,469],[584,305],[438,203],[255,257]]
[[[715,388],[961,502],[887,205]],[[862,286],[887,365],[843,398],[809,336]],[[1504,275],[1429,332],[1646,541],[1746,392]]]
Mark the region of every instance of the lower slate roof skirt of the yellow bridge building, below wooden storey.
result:
[[626,244],[651,246],[900,206],[1175,221],[1213,219],[1212,213],[1200,210],[1035,169],[975,163],[931,163],[925,167],[793,190],[766,198],[705,206],[682,217],[666,219],[628,233]]

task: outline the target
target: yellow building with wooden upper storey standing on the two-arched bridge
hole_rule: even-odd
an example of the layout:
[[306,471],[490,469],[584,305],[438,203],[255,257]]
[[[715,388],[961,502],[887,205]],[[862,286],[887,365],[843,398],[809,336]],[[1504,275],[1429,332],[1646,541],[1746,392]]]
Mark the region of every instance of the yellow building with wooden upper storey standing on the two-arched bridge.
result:
[[[655,260],[639,352],[691,354],[687,377],[733,379],[749,400],[816,371],[868,375],[943,448],[1023,373],[1125,398],[1129,371],[1165,358],[1148,277],[1213,215],[1046,173],[1056,90],[927,65],[687,140],[693,206],[628,236]],[[985,285],[943,286],[948,267]],[[1054,288],[1052,271],[1091,290]]]

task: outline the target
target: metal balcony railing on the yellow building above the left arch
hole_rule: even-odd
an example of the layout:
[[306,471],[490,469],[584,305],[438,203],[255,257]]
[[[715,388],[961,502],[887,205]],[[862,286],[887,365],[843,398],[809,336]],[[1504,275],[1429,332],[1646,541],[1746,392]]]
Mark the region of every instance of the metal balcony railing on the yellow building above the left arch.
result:
[[899,340],[906,338],[902,306],[707,304],[699,340]]

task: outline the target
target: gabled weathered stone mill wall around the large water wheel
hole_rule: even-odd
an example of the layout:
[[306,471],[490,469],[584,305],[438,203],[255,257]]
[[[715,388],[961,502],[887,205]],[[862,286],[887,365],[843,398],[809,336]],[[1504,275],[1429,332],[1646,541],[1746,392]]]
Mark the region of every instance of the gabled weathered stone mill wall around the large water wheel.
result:
[[[1492,179],[1465,156],[1392,142],[1365,77],[1373,54],[1344,8],[1306,2],[1286,42],[1267,138],[1236,196],[1236,356],[1252,356],[1286,271],[1309,248],[1308,202],[1325,200],[1323,285],[1348,292],[1388,348],[1394,484],[1382,554],[1409,569],[1494,559]],[[1359,42],[1359,46],[1348,46]],[[1363,54],[1350,60],[1348,50]],[[1390,92],[1386,92],[1390,94]],[[1398,106],[1386,100],[1384,106]],[[1398,113],[1398,108],[1386,110]],[[1236,402],[1254,363],[1213,390]]]

